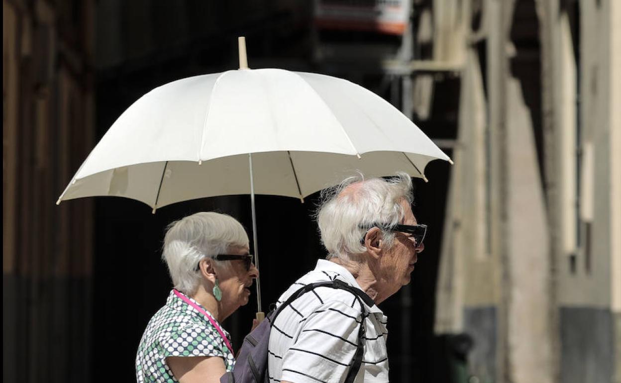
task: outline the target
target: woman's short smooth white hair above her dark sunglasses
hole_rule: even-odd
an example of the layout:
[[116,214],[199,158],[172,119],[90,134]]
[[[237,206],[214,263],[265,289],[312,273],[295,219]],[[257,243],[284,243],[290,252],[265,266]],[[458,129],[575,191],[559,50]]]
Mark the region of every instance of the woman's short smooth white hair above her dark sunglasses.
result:
[[[204,257],[224,254],[230,246],[248,246],[242,224],[227,214],[200,212],[168,225],[161,258],[168,265],[173,286],[194,294],[201,281],[196,266]],[[214,261],[220,268],[227,264]]]

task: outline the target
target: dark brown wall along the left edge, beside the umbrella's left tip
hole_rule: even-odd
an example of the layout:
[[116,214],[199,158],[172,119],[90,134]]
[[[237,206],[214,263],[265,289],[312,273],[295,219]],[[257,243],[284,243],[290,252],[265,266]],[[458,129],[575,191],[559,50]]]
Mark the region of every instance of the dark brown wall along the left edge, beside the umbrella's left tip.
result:
[[54,202],[93,145],[92,3],[2,1],[2,377],[90,379],[93,208]]

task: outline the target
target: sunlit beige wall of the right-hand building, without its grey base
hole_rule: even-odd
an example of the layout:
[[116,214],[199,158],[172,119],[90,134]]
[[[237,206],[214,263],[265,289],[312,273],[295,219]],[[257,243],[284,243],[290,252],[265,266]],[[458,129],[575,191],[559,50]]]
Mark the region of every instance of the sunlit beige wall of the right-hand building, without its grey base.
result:
[[[465,3],[469,9],[472,3]],[[617,330],[610,331],[620,331],[621,2],[580,1],[579,52],[574,52],[571,24],[560,11],[560,1],[536,3],[545,61],[545,183],[538,174],[524,94],[507,68],[513,47],[502,34],[509,30],[513,2],[484,1],[487,62],[479,63],[474,50],[466,50],[438,280],[437,331],[468,331],[463,328],[465,310],[496,308],[499,381],[559,381],[565,358],[561,354],[582,351],[561,340],[561,319],[576,323],[575,318],[560,318],[563,307],[604,313],[611,309],[617,313]],[[472,46],[471,38],[465,34],[466,47]],[[574,62],[576,54],[580,66]],[[481,93],[483,67],[487,99]],[[581,176],[576,166],[578,126]],[[486,128],[489,148],[483,140]],[[491,156],[489,165],[485,153]],[[486,222],[486,203],[491,222]],[[590,270],[585,249],[576,246],[576,214],[592,225]],[[489,253],[486,225],[492,233]],[[571,255],[576,256],[575,272],[569,268]],[[602,331],[609,330],[598,328],[597,333]],[[616,339],[614,379],[621,381],[619,334]]]

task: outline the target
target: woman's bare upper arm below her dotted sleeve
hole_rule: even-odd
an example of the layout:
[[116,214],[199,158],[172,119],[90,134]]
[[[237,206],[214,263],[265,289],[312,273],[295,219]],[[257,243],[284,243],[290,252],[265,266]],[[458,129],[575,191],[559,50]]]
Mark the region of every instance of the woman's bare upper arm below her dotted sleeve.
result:
[[169,356],[166,364],[180,383],[219,383],[227,372],[219,356]]

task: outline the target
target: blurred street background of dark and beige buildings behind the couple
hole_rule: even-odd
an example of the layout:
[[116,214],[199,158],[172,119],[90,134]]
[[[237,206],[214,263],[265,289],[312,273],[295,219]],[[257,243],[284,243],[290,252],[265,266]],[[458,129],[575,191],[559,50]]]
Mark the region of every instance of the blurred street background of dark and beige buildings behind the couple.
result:
[[[392,382],[621,382],[621,2],[3,0],[3,381],[131,382],[164,229],[250,197],[55,201],[138,97],[250,68],[349,79],[455,161],[382,304]],[[317,195],[257,196],[265,306],[325,256]],[[255,301],[224,323],[240,346]],[[267,307],[263,307],[267,309]]]

